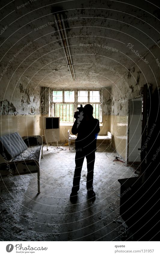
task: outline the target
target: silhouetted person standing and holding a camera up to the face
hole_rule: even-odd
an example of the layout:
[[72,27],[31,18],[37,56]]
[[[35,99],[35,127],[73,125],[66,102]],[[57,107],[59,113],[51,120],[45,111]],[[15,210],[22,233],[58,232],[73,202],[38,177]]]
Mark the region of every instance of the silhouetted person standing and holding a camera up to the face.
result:
[[75,141],[75,171],[73,179],[73,187],[70,195],[71,200],[77,200],[77,191],[80,188],[80,175],[84,158],[87,160],[87,192],[89,197],[95,197],[93,191],[93,170],[95,163],[96,139],[100,131],[99,120],[93,117],[93,107],[87,104],[82,112],[75,112],[76,119],[72,127],[72,134],[77,134]]

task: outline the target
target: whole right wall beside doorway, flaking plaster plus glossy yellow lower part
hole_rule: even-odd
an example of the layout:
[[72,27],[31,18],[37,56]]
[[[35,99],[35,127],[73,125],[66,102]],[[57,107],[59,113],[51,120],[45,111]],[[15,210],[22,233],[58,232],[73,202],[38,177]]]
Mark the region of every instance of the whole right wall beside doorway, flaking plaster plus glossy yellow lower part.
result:
[[[114,141],[112,146],[123,159],[127,159],[128,100],[143,97],[143,85],[152,86],[152,92],[159,87],[160,70],[155,58],[160,59],[158,46],[153,46],[145,56],[149,64],[140,60],[111,87],[110,130]],[[125,79],[123,81],[122,79]],[[128,84],[128,86],[127,86]],[[123,120],[121,122],[121,120]]]

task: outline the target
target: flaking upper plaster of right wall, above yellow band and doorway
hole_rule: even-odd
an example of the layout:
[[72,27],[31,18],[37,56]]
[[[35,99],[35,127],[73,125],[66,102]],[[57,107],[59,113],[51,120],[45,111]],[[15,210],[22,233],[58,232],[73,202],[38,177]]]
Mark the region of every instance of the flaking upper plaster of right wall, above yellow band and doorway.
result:
[[112,85],[111,115],[128,115],[128,100],[142,97],[144,84],[152,85],[153,91],[159,86],[160,68],[153,56],[160,59],[158,46],[153,46],[146,54],[148,64],[140,60],[128,72],[120,74],[122,78]]

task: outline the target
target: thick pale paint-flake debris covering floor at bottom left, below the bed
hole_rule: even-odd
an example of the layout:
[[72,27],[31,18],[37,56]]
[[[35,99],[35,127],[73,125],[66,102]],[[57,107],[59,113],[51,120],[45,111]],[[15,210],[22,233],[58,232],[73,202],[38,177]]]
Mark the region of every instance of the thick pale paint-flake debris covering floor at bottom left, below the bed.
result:
[[4,230],[7,231],[7,241],[30,241],[33,239],[40,241],[45,239],[43,234],[31,231],[34,229],[32,222],[34,214],[23,206],[29,182],[33,177],[32,175],[21,175],[15,176],[9,181],[8,178],[4,178],[3,183],[1,181],[0,237],[2,241],[6,241]]

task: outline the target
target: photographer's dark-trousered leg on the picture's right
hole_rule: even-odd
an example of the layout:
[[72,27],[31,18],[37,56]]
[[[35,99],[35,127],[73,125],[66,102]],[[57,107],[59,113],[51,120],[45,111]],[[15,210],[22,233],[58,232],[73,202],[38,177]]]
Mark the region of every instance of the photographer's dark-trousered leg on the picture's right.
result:
[[86,154],[87,160],[87,190],[93,191],[93,171],[95,163],[95,151]]

